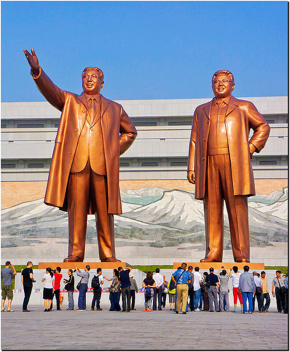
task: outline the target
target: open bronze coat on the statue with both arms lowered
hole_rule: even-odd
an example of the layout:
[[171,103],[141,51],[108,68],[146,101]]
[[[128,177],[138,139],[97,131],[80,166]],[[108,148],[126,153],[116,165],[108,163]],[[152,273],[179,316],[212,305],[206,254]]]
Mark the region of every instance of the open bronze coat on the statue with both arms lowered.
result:
[[[195,110],[189,145],[188,170],[195,171],[195,198],[205,197],[207,143],[212,101]],[[250,162],[249,142],[260,152],[265,146],[270,127],[256,107],[248,101],[231,97],[225,126],[231,161],[234,195],[255,195],[254,176]],[[249,140],[250,129],[254,133]]]

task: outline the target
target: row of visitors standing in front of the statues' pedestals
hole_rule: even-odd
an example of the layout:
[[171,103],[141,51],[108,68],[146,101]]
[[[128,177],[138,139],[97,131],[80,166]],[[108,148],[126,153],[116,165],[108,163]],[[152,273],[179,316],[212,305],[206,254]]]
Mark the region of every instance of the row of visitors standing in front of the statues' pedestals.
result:
[[[11,269],[12,268],[12,269]],[[31,296],[33,283],[33,262],[27,262],[27,268],[22,270],[21,281],[24,288],[23,312],[29,312],[28,303]],[[109,311],[120,311],[129,313],[135,309],[135,293],[139,291],[136,281],[131,273],[132,268],[114,269],[111,278],[102,275],[102,269],[98,268],[96,274],[92,277],[91,287],[93,289],[93,299],[91,310],[101,311],[100,307],[102,285],[104,280],[110,282],[109,286]],[[56,309],[61,310],[60,305],[60,286],[63,280],[65,290],[68,294],[68,308],[74,310],[74,291],[75,278],[73,273],[80,278],[76,289],[79,291],[76,311],[85,311],[86,293],[90,278],[90,266],[87,265],[82,272],[78,267],[74,270],[69,269],[68,278],[63,279],[61,268],[46,268],[46,273],[42,278],[44,283],[43,299],[44,311],[50,312],[53,308],[53,298],[56,299]],[[13,299],[12,275],[17,275],[14,265],[10,261],[6,262],[2,270],[3,288],[2,288],[2,312],[13,312],[11,303]],[[234,301],[233,312],[237,312],[237,303],[240,303],[240,309],[243,314],[252,314],[255,310],[255,301],[257,301],[257,311],[268,312],[270,305],[270,294],[266,273],[260,274],[253,271],[249,273],[249,266],[245,265],[243,273],[239,272],[238,267],[230,268],[229,272],[221,267],[217,275],[214,269],[210,268],[209,273],[204,272],[203,276],[199,273],[199,267],[193,268],[182,263],[167,281],[164,275],[160,274],[157,268],[155,273],[148,272],[142,282],[144,292],[144,309],[143,312],[152,310],[162,310],[166,306],[167,296],[169,297],[170,310],[177,314],[181,311],[187,314],[188,311],[199,312],[229,312],[229,280],[232,280],[232,294]],[[279,270],[272,280],[272,296],[276,298],[277,311],[279,313],[288,313],[288,277],[282,275]],[[120,297],[122,298],[122,308],[120,306]],[[8,298],[8,309],[4,308],[6,298]],[[151,309],[152,308],[152,309]]]

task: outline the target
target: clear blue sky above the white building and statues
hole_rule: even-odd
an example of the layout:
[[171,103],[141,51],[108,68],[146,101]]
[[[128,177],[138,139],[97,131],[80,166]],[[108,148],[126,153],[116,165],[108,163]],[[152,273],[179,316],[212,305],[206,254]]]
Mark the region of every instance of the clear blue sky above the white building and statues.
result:
[[23,49],[61,89],[104,72],[112,100],[211,98],[218,69],[236,97],[287,95],[287,2],[2,2],[2,101],[44,101]]

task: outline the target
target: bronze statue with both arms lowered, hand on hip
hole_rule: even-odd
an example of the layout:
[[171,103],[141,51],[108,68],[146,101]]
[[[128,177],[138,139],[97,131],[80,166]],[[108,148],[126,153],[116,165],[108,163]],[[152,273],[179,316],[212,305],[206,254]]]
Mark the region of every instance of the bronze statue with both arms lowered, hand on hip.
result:
[[215,98],[198,106],[193,117],[187,179],[195,184],[195,198],[203,200],[206,253],[201,262],[222,261],[224,200],[234,260],[250,261],[247,197],[255,195],[250,159],[265,146],[270,127],[251,102],[232,96],[234,86],[230,71],[215,72]]

